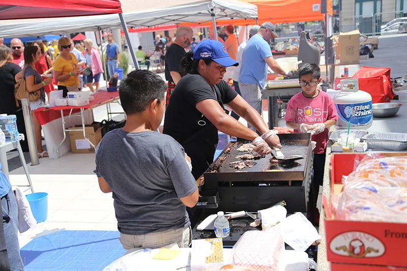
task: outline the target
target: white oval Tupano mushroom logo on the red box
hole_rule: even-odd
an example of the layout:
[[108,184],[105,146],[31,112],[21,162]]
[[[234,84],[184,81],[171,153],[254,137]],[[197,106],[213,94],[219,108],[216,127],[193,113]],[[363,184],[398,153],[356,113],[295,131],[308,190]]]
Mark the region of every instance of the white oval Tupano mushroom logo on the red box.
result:
[[360,231],[345,232],[337,235],[332,239],[329,247],[335,254],[353,258],[379,257],[386,250],[379,239]]

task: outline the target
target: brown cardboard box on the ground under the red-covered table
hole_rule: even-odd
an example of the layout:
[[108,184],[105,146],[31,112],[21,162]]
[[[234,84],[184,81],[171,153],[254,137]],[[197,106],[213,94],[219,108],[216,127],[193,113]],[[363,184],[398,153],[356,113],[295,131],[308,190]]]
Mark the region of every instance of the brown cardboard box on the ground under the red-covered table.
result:
[[[69,127],[68,130],[82,129],[81,125]],[[95,147],[102,140],[102,128],[98,124],[85,125],[86,138],[91,140]],[[90,154],[95,153],[95,148],[83,138],[82,131],[69,131],[71,140],[71,151],[73,154]]]

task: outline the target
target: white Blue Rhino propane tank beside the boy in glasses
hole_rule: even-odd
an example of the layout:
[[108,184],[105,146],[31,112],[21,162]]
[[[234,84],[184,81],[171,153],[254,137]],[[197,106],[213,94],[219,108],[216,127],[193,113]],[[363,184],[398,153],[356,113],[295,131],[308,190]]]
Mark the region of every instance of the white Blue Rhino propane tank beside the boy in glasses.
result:
[[341,92],[332,99],[338,112],[336,129],[368,129],[373,123],[372,97],[359,90],[359,79],[348,78],[340,81]]

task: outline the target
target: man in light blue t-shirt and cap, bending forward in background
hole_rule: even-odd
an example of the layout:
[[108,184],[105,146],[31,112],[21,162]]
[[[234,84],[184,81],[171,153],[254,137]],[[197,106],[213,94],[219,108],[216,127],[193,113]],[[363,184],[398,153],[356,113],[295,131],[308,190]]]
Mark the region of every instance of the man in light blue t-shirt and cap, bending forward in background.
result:
[[260,29],[248,42],[242,55],[242,67],[239,74],[239,88],[245,99],[261,114],[261,89],[266,85],[267,66],[278,74],[289,75],[275,61],[268,43],[277,38],[271,22],[260,25]]

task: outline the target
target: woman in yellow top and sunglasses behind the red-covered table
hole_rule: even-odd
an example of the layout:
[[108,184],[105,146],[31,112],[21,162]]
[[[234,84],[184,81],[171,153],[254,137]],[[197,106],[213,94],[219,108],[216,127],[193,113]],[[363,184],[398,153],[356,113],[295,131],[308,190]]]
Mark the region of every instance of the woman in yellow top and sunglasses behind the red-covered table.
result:
[[[58,82],[58,89],[62,89],[63,97],[67,96],[68,91],[79,91],[79,74],[83,71],[79,69],[78,61],[73,53],[70,52],[71,41],[62,37],[58,41],[60,55],[54,61],[54,75]],[[69,89],[68,89],[69,88]]]

